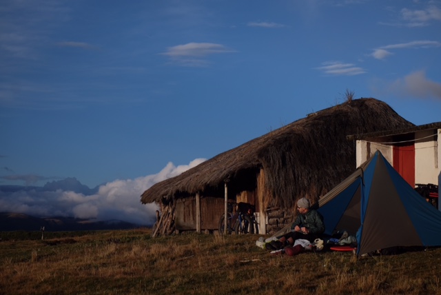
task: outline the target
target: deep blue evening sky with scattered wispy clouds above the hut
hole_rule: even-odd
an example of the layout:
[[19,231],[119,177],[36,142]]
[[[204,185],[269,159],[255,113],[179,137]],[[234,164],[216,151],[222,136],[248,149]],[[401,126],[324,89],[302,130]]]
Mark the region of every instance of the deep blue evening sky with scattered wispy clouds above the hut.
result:
[[3,0],[0,28],[0,185],[143,183],[346,90],[441,121],[441,1]]

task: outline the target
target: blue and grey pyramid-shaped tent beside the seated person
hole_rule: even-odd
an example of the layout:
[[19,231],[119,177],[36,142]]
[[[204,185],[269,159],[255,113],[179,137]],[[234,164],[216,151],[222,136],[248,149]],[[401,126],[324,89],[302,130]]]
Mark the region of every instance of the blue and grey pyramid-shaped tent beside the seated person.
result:
[[356,236],[357,254],[395,246],[441,246],[441,212],[376,152],[320,198],[325,234]]

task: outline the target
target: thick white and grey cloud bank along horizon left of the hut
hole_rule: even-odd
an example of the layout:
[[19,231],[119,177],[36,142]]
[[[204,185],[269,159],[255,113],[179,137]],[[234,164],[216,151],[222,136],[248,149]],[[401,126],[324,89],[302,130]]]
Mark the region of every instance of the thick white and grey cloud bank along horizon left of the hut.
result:
[[[45,187],[30,190],[0,191],[0,208],[3,212],[17,212],[38,217],[64,216],[86,218],[96,221],[121,220],[139,225],[153,225],[158,206],[154,203],[141,204],[141,194],[149,187],[177,176],[202,163],[195,159],[188,165],[167,165],[158,172],[137,179],[116,180],[101,185],[93,194],[64,190],[70,183],[60,181],[48,183]],[[57,187],[59,185],[59,187]],[[81,183],[79,183],[81,185]]]

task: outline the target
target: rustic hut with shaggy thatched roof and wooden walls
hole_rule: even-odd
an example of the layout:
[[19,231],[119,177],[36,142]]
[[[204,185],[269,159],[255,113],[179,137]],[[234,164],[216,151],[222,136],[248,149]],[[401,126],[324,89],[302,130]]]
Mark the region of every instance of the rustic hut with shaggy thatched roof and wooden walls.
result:
[[161,217],[153,235],[216,230],[224,199],[256,206],[260,233],[291,221],[296,200],[312,203],[356,167],[351,134],[408,128],[413,124],[377,99],[354,99],[314,112],[182,174],[156,183],[141,196]]

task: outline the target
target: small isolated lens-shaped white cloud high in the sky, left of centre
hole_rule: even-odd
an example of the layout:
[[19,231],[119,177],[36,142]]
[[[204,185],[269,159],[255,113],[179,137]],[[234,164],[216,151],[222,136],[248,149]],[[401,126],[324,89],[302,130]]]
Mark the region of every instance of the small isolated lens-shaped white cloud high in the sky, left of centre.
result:
[[170,57],[172,62],[191,67],[203,67],[209,64],[209,61],[202,59],[212,54],[235,52],[224,45],[216,43],[187,43],[167,48],[166,52],[161,54]]

